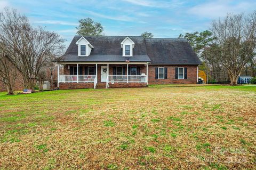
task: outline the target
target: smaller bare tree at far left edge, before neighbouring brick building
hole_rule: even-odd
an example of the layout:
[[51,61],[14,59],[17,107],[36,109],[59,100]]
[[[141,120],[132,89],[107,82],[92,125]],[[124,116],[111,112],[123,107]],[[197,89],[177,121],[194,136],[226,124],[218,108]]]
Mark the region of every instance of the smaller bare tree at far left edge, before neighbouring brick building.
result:
[[4,83],[8,94],[13,94],[15,80],[18,76],[19,71],[0,49],[0,82]]

